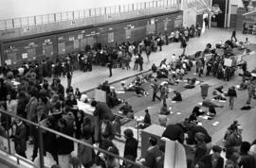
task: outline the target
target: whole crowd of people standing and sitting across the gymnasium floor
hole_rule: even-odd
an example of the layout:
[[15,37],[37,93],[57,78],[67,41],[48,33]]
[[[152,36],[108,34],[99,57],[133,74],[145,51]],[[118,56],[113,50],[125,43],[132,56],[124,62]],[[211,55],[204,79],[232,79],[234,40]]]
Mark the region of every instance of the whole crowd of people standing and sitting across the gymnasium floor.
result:
[[[161,126],[166,126],[163,137],[172,141],[184,143],[184,136],[188,135],[186,143],[194,145],[194,158],[188,160],[188,167],[224,167],[224,160],[220,157],[223,151],[218,145],[212,145],[211,137],[203,126],[198,126],[197,117],[205,114],[200,110],[200,106],[194,107],[192,115],[185,119],[184,122],[178,124],[167,125],[167,117],[171,109],[167,106],[167,98],[170,90],[170,85],[177,85],[179,81],[192,69],[195,60],[196,71],[198,76],[204,73],[204,67],[207,67],[206,76],[217,76],[229,80],[233,76],[232,68],[224,65],[224,59],[232,57],[232,45],[226,42],[224,46],[224,55],[219,56],[215,50],[211,49],[211,44],[208,44],[204,51],[195,54],[195,58],[185,55],[187,42],[194,36],[200,36],[200,25],[191,28],[176,29],[170,35],[149,36],[141,42],[122,42],[116,45],[108,45],[101,47],[101,44],[96,44],[94,47],[85,47],[85,51],[78,55],[73,53],[66,58],[57,58],[56,63],[46,59],[41,63],[24,63],[20,68],[10,70],[7,65],[1,68],[3,78],[0,78],[0,108],[13,115],[27,119],[30,122],[41,124],[60,133],[75,137],[83,143],[90,145],[98,145],[117,156],[121,155],[127,160],[137,161],[138,164],[148,166],[150,168],[163,168],[164,162],[164,146],[158,146],[155,137],[150,137],[150,147],[146,152],[145,158],[137,160],[137,139],[134,138],[132,129],[124,130],[124,153],[119,154],[119,148],[114,143],[114,138],[121,135],[120,118],[112,113],[111,108],[123,103],[120,108],[122,115],[134,119],[134,111],[131,105],[125,100],[119,99],[117,92],[111,90],[108,82],[104,82],[99,89],[106,92],[106,103],[98,102],[94,99],[89,99],[87,95],[80,90],[72,88],[72,76],[75,69],[82,71],[92,71],[92,65],[107,66],[112,76],[112,68],[130,69],[130,61],[135,56],[134,70],[143,70],[143,58],[141,53],[145,52],[148,62],[150,61],[151,52],[155,52],[157,48],[162,50],[163,44],[170,42],[181,42],[181,47],[184,48],[183,54],[175,61],[167,63],[166,59],[162,60],[157,67],[152,66],[153,76],[136,76],[131,85],[125,86],[122,83],[122,91],[136,92],[138,96],[147,96],[142,83],[150,81],[153,89],[152,101],[158,99],[162,101],[162,107],[159,111],[159,122]],[[228,43],[228,44],[227,44]],[[212,57],[205,62],[207,54]],[[247,102],[255,96],[254,78],[247,78],[247,66],[243,62],[241,64],[244,71],[243,83],[241,88],[247,88],[250,92]],[[224,73],[225,72],[225,73]],[[169,76],[171,75],[171,77]],[[54,77],[52,83],[49,83],[45,77]],[[67,77],[67,87],[61,83],[60,76]],[[159,84],[158,80],[167,78],[166,82]],[[15,79],[15,80],[14,80]],[[192,89],[196,85],[196,78],[187,78],[185,88]],[[229,107],[233,108],[235,89],[230,88]],[[215,90],[214,90],[215,91]],[[158,96],[157,93],[160,92]],[[216,89],[217,97],[225,98],[225,94],[221,89]],[[207,95],[206,95],[207,96]],[[173,101],[182,101],[182,95],[178,91],[174,91]],[[78,101],[82,101],[90,105],[93,110],[93,116],[87,116],[84,111],[78,108]],[[247,103],[248,104],[248,103]],[[219,107],[208,100],[204,100],[202,105],[207,106],[212,115],[216,114],[214,108]],[[149,109],[145,109],[143,126],[145,128],[152,124]],[[233,167],[256,167],[255,160],[252,159],[252,154],[248,153],[249,149],[255,157],[255,141],[247,143],[242,141],[240,126],[235,122],[229,126],[229,130],[225,134],[225,150],[227,152],[226,165],[232,164]],[[9,115],[1,114],[0,133],[3,137],[9,137],[13,140],[15,151],[18,155],[24,158],[27,157],[27,142],[33,144],[32,160],[39,167],[38,149],[40,147],[38,127],[23,122],[19,118],[10,117]],[[44,154],[47,159],[51,160],[52,167],[61,168],[79,167],[82,165],[85,168],[91,167],[94,163],[106,168],[119,168],[119,159],[112,155],[104,154],[100,151],[95,151],[93,148],[73,143],[71,140],[65,139],[62,136],[55,135],[48,131],[43,131],[44,139]],[[71,153],[77,146],[77,154],[70,158]],[[212,149],[212,154],[210,154]],[[239,153],[240,151],[240,153]],[[239,159],[239,160],[238,160]],[[127,161],[123,161],[121,166],[124,168],[136,167]],[[228,168],[228,167],[227,167]],[[250,168],[250,167],[249,167]]]

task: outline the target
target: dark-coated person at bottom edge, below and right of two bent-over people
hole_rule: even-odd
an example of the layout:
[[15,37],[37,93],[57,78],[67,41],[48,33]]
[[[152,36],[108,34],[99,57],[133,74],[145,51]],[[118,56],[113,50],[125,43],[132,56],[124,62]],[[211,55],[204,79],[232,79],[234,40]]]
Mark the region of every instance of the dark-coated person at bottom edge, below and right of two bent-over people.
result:
[[223,168],[224,159],[220,156],[222,148],[218,145],[212,147],[213,154],[206,155],[199,161],[199,165],[202,168]]

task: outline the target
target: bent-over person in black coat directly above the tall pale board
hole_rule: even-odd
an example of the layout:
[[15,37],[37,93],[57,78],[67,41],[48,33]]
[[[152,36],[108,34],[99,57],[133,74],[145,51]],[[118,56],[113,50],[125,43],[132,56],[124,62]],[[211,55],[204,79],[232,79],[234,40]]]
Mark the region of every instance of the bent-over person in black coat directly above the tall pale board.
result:
[[164,130],[162,137],[168,138],[172,141],[184,143],[184,128],[181,124],[168,125]]

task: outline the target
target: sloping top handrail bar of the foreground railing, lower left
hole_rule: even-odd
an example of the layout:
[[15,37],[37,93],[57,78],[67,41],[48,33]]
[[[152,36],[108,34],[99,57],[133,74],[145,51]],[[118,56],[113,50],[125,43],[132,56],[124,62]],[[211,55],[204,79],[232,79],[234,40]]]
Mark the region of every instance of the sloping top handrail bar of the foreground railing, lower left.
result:
[[[127,160],[127,159],[125,159],[125,158],[122,158],[122,157],[120,157],[120,156],[118,156],[118,155],[116,155],[116,154],[113,154],[113,153],[108,152],[108,151],[106,151],[106,150],[104,150],[104,149],[101,149],[100,147],[96,147],[96,146],[91,145],[91,144],[88,144],[88,143],[83,143],[82,141],[77,140],[77,139],[75,139],[75,138],[73,138],[73,137],[70,137],[70,136],[68,136],[68,135],[65,135],[65,134],[63,134],[63,133],[61,133],[61,132],[58,132],[58,131],[56,131],[56,130],[50,129],[50,128],[46,127],[46,126],[41,126],[40,124],[33,123],[33,122],[31,122],[31,121],[29,121],[29,120],[27,120],[27,119],[25,119],[25,118],[22,118],[22,117],[20,117],[20,116],[17,116],[17,115],[14,115],[14,114],[12,114],[12,113],[9,113],[9,112],[7,112],[7,111],[5,111],[5,110],[3,110],[3,109],[0,109],[0,113],[4,113],[4,114],[6,114],[6,115],[9,115],[10,117],[17,118],[17,119],[19,119],[19,120],[21,120],[21,121],[23,121],[23,122],[25,122],[25,123],[28,123],[29,125],[36,126],[37,128],[42,128],[42,129],[44,129],[44,130],[46,130],[46,131],[48,131],[48,132],[51,132],[51,133],[53,133],[53,134],[55,134],[55,135],[64,137],[65,139],[68,139],[68,140],[70,140],[70,141],[72,141],[72,142],[74,142],[74,143],[81,143],[82,145],[85,145],[85,146],[87,146],[87,147],[90,147],[90,148],[93,148],[93,149],[95,149],[95,150],[98,150],[98,151],[100,151],[100,152],[102,152],[102,153],[104,153],[104,154],[110,155],[110,156],[112,156],[112,157],[114,157],[114,158],[117,158],[117,159],[119,159],[119,160],[126,161],[126,162],[131,163],[131,164],[133,164],[133,165],[136,165],[136,166],[138,166],[138,167],[147,168],[147,166],[143,166],[143,165],[141,165],[141,164],[139,164],[139,163],[137,163],[137,162],[134,162],[134,161],[132,161],[132,160]],[[39,141],[43,141],[43,140],[39,140]],[[41,157],[44,158],[44,156],[40,156],[40,158],[41,158]]]

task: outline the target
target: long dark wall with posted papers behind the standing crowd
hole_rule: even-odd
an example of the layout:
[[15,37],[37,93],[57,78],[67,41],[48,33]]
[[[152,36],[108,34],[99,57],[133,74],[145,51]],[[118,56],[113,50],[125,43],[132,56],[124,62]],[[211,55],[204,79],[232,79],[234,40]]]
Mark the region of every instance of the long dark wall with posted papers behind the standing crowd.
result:
[[[57,55],[65,57],[69,53],[83,51],[86,45],[93,46],[96,42],[100,42],[102,46],[108,44],[109,39],[113,39],[114,42],[138,41],[146,36],[149,27],[155,27],[153,33],[157,34],[165,33],[166,28],[167,32],[171,32],[175,26],[182,24],[182,15],[182,11],[169,12],[5,40],[1,42],[1,63],[7,62],[11,66],[16,66],[15,64],[19,65],[24,61],[41,60],[46,57],[55,59]],[[129,39],[127,29],[130,30]]]

